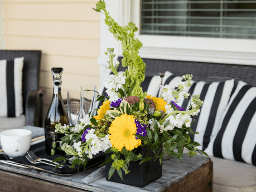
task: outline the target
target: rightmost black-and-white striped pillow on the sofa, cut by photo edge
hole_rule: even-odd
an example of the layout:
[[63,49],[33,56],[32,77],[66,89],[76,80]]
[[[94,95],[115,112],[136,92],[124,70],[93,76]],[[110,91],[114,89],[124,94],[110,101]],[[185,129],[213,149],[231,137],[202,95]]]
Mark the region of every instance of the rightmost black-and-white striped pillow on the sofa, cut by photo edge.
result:
[[205,152],[256,165],[256,87],[238,82]]

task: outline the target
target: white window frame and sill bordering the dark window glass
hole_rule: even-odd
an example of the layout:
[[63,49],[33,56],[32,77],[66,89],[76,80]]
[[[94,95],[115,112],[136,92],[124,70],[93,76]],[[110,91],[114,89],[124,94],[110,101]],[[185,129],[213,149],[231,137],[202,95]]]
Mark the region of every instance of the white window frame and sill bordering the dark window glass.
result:
[[[123,16],[134,22],[140,32],[141,0],[131,0],[128,9],[125,9],[125,1],[127,0],[123,0],[121,7],[124,11]],[[142,58],[256,65],[254,39],[158,36],[139,33],[135,37],[143,43],[143,48],[139,52]]]

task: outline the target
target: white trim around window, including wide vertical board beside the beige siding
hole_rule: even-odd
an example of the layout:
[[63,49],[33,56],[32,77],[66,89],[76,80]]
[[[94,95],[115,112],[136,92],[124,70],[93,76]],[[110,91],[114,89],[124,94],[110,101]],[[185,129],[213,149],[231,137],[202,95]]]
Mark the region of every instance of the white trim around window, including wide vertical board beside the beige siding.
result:
[[[105,0],[107,11],[121,26],[132,21],[140,27],[140,0]],[[106,69],[106,48],[115,48],[122,55],[121,43],[107,30],[101,14],[101,56],[98,64],[102,74]],[[140,29],[139,29],[140,30]],[[256,65],[256,40],[208,37],[175,37],[135,34],[143,43],[139,50],[141,58],[198,61],[223,64]],[[102,50],[103,49],[103,50]]]

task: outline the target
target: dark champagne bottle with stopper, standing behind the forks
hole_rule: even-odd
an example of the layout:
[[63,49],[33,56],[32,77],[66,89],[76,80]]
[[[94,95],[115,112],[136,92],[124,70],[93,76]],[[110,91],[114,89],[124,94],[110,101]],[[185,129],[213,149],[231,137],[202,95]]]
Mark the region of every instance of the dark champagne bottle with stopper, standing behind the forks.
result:
[[[61,125],[68,125],[69,118],[68,113],[65,109],[64,102],[61,97],[61,76],[63,68],[52,68],[53,74],[53,98],[51,105],[44,118],[44,135],[45,135],[45,148],[46,153],[51,155],[51,149],[53,149],[54,141],[61,141],[60,138],[64,137],[65,134],[55,133],[55,126],[59,123]],[[57,142],[59,147],[60,143]],[[62,150],[55,149],[55,154],[65,155]]]

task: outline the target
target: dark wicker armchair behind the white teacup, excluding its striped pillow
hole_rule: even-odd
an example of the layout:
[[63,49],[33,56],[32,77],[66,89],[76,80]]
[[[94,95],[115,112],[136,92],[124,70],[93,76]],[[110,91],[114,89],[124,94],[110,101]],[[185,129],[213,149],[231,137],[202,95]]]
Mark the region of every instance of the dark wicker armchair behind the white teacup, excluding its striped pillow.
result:
[[0,50],[0,60],[24,57],[22,70],[22,106],[19,117],[0,117],[0,131],[24,125],[42,127],[43,92],[39,90],[42,51]]

